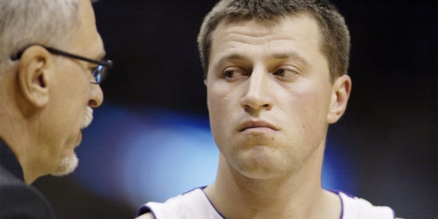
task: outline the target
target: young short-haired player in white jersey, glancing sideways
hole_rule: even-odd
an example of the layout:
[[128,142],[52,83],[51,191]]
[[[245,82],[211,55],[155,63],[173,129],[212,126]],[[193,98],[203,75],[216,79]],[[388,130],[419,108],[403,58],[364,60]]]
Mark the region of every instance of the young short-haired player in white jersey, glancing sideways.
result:
[[140,218],[394,218],[389,207],[322,189],[327,129],[351,90],[350,36],[331,3],[220,1],[198,47],[216,181],[147,203]]

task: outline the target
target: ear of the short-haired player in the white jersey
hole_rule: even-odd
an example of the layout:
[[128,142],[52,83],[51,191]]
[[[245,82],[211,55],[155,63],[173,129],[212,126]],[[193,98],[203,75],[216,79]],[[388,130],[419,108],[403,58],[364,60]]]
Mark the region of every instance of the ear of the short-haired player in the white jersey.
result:
[[327,123],[336,123],[344,114],[351,92],[351,79],[348,75],[338,77],[333,83]]

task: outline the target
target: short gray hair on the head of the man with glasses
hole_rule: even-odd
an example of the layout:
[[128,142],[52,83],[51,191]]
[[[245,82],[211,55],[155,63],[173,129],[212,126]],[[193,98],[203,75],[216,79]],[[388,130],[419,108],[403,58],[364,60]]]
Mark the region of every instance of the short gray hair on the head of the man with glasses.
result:
[[31,44],[62,48],[79,26],[78,0],[0,0],[0,76]]

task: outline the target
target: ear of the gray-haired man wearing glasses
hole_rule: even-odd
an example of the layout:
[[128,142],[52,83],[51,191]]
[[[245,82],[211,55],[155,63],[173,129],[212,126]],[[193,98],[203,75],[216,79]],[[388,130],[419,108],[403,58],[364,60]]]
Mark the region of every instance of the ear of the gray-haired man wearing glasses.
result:
[[18,84],[21,93],[35,107],[49,102],[49,67],[52,59],[49,51],[35,45],[27,48],[18,64]]

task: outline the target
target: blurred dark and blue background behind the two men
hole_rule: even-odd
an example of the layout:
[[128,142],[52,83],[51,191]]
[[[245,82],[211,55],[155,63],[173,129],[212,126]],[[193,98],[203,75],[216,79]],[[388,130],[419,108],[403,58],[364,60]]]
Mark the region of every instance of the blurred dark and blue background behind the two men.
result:
[[[196,36],[216,1],[101,0],[114,68],[68,177],[34,183],[58,218],[134,218],[214,181]],[[352,36],[352,95],[329,128],[323,185],[437,218],[437,1],[333,1]]]

